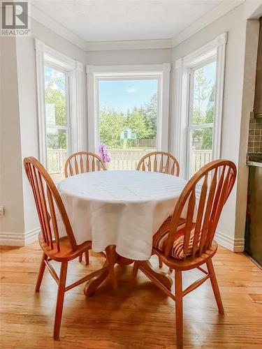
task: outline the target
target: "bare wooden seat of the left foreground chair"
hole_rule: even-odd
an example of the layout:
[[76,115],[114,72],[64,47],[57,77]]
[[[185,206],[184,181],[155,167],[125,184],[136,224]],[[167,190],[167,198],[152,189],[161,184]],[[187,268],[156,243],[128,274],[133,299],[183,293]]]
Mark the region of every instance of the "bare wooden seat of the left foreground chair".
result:
[[50,257],[52,260],[57,260],[58,262],[62,262],[64,259],[73,260],[77,258],[78,255],[80,255],[84,251],[89,250],[92,247],[92,242],[87,241],[80,244],[74,251],[71,247],[71,243],[68,237],[62,237],[60,239],[60,251],[58,252],[57,244],[55,243],[55,241],[53,242],[53,248],[51,249],[50,246],[45,243],[42,237],[42,233],[39,234],[38,240],[45,254],[47,254],[48,257]]

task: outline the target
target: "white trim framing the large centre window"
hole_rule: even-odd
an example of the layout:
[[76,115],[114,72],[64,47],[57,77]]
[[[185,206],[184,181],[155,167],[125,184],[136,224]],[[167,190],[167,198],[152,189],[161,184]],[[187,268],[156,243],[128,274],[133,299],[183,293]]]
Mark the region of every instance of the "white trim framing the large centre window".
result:
[[168,151],[168,114],[170,64],[145,64],[132,66],[87,66],[87,105],[88,105],[88,149],[97,151],[99,144],[99,80],[156,78],[159,81],[158,120],[157,120],[157,149]]

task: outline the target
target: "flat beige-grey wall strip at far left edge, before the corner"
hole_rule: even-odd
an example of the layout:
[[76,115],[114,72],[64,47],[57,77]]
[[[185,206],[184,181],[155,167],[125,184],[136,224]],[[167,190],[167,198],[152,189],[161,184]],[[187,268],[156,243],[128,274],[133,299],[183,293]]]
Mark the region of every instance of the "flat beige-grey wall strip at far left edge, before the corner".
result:
[[[1,37],[1,237],[20,244],[24,232],[22,158],[15,38]],[[1,241],[0,241],[1,243]]]

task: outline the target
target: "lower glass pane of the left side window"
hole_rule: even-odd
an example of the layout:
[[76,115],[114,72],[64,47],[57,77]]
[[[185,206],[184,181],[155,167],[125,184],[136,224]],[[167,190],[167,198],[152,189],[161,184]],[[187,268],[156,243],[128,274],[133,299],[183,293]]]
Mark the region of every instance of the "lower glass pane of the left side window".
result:
[[60,174],[64,172],[64,164],[68,157],[67,131],[59,128],[47,128],[48,172]]

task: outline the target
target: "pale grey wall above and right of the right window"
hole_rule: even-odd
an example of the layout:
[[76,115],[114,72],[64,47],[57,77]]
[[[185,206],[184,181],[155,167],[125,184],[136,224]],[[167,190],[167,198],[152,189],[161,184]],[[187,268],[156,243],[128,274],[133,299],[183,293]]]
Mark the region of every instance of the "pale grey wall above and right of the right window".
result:
[[[180,57],[193,52],[210,42],[219,34],[228,31],[228,43],[226,45],[226,71],[224,83],[224,105],[222,118],[222,138],[221,138],[221,158],[233,161],[238,168],[238,179],[233,188],[233,193],[228,199],[221,220],[218,226],[219,242],[235,251],[242,251],[244,248],[245,236],[245,215],[247,202],[247,166],[245,165],[245,156],[247,153],[247,109],[245,117],[242,120],[242,98],[244,86],[244,68],[246,57],[246,29],[247,29],[247,4],[243,4],[227,13],[219,20],[208,25],[194,36],[185,40],[173,49],[173,64]],[[258,21],[256,21],[258,22]],[[257,28],[257,27],[256,27]],[[256,57],[257,36],[250,36],[252,40],[249,45],[249,54]],[[254,28],[253,28],[254,33]],[[254,70],[254,59],[249,61],[249,68]],[[253,71],[252,70],[252,71]],[[248,78],[248,77],[247,77]],[[174,110],[174,76],[172,75],[171,102],[170,102],[170,151],[174,149],[174,128],[175,128],[175,110]],[[246,89],[246,94],[252,94],[252,91]],[[247,96],[245,96],[247,97]],[[249,97],[248,97],[249,98]],[[250,100],[250,98],[249,98]],[[252,109],[249,109],[251,111]],[[242,133],[241,133],[242,130]],[[245,143],[241,143],[242,140]],[[242,144],[242,155],[240,157],[240,144]],[[238,212],[238,222],[236,222],[235,213]]]

